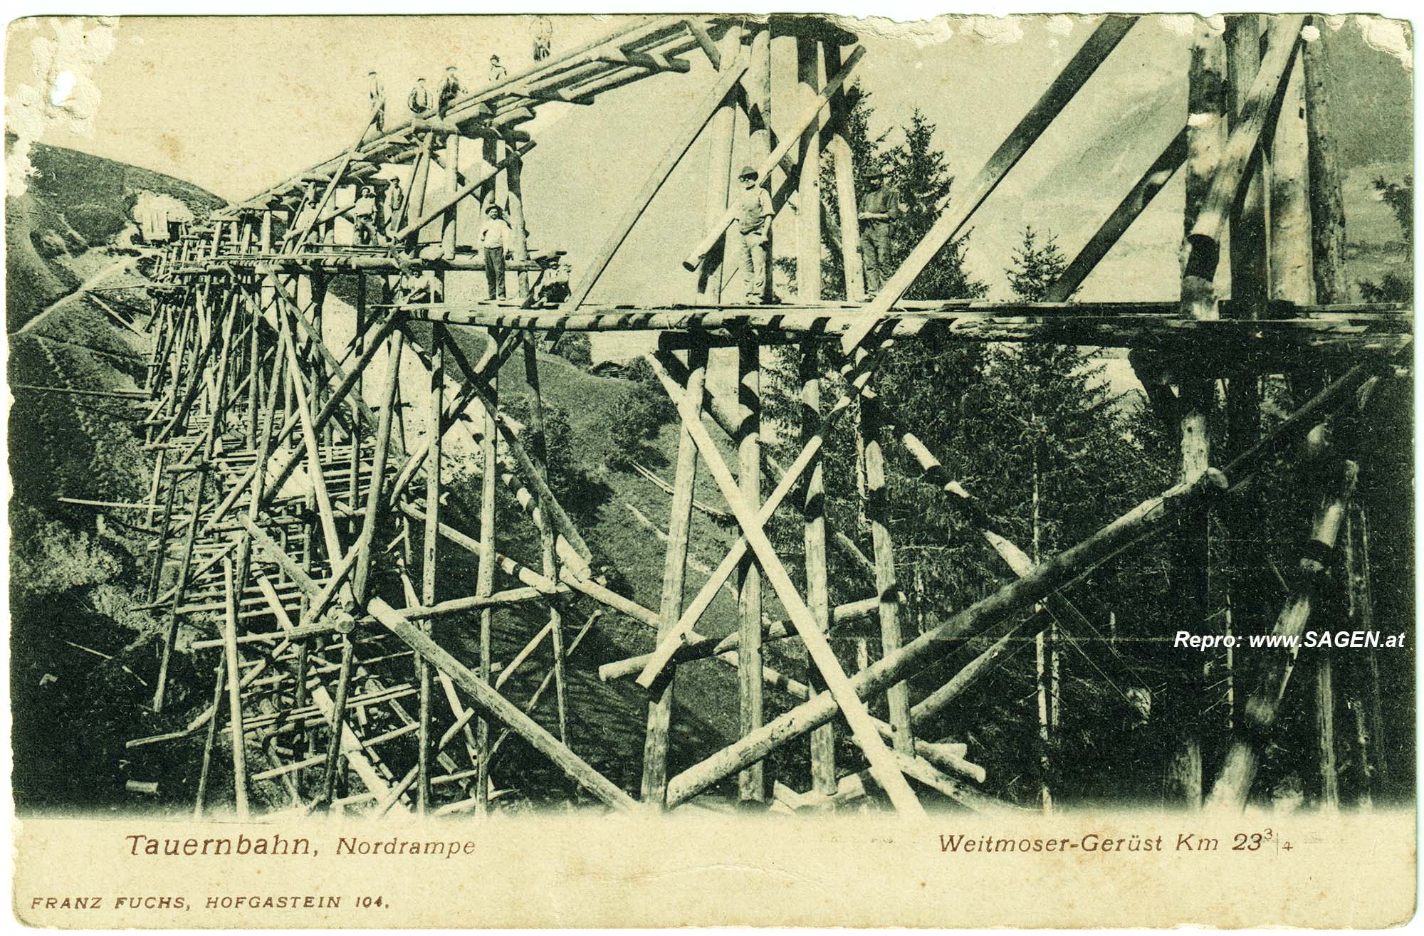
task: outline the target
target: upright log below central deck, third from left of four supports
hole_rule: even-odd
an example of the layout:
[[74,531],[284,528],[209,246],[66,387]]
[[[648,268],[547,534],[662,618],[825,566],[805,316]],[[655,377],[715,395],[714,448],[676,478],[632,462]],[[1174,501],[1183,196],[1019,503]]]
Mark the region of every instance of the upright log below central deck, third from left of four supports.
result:
[[[820,368],[816,361],[815,344],[800,349],[802,381],[802,444],[809,442],[820,428]],[[830,590],[826,580],[826,478],[820,451],[806,468],[806,499],[802,514],[806,518],[806,607],[816,620],[819,630],[830,627]],[[824,677],[815,663],[807,663],[806,681],[813,696],[829,691]],[[812,792],[834,795],[836,792],[836,727],[823,724],[810,733],[810,788]]]

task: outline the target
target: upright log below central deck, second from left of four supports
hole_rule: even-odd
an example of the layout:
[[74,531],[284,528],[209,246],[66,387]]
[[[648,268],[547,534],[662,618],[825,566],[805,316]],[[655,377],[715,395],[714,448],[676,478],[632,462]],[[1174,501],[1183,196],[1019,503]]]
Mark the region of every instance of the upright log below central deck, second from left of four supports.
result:
[[[753,508],[762,504],[762,360],[760,346],[743,334],[736,346],[738,383],[738,484]],[[740,688],[742,737],[763,721],[762,700],[762,572],[748,555],[738,566],[738,646],[736,673]],[[766,801],[762,764],[752,764],[738,774],[738,795],[743,804]]]

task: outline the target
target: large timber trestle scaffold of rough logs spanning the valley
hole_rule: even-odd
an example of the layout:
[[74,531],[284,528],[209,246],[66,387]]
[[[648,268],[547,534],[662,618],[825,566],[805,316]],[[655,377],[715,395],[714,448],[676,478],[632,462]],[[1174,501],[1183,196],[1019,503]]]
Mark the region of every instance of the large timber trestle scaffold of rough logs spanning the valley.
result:
[[[1327,101],[1312,81],[1323,44],[1307,41],[1313,28],[1304,17],[1236,18],[1233,28],[1269,24],[1265,34],[1255,33],[1259,41],[1246,43],[1260,53],[1250,68],[1255,78],[1240,83],[1235,102],[1226,101],[1226,40],[1242,47],[1243,40],[1199,26],[1188,75],[1192,119],[1183,114],[1182,134],[1163,141],[1163,155],[1125,192],[1041,303],[904,302],[903,294],[940,249],[967,230],[974,211],[1091,80],[1134,17],[1079,27],[1091,28],[1088,41],[983,169],[954,186],[938,222],[873,299],[864,294],[854,176],[839,127],[844,88],[864,48],[817,17],[645,18],[480,88],[443,118],[377,134],[373,112],[350,149],[195,226],[161,256],[151,290],[145,425],[154,471],[138,514],[152,535],[148,606],[162,616],[165,637],[152,704],[164,707],[174,657],[184,650],[201,673],[211,673],[211,698],[177,731],[131,741],[131,755],[201,738],[198,812],[215,807],[212,767],[231,757],[241,817],[259,808],[483,812],[497,795],[491,777],[511,782],[498,761],[510,737],[567,774],[577,798],[615,809],[672,808],[732,777],[743,802],[775,798],[813,807],[874,788],[910,815],[921,814],[927,798],[1008,808],[978,789],[984,771],[963,744],[920,737],[983,671],[980,661],[923,698],[911,698],[907,680],[971,639],[968,646],[991,660],[995,646],[1020,627],[1020,612],[1035,605],[1071,613],[1059,587],[1143,538],[1176,529],[1180,516],[1236,496],[1253,472],[1316,427],[1354,418],[1370,388],[1394,376],[1411,341],[1410,309],[1349,304],[1340,284],[1343,245],[1333,229],[1340,222],[1339,179],[1329,138],[1312,131],[1326,121]],[[567,289],[550,290],[561,253],[533,252],[524,239],[520,168],[535,141],[520,127],[550,102],[587,105],[638,80],[688,73],[691,55],[711,63],[712,85],[689,88],[685,122],[634,202],[614,206],[622,213],[601,250],[572,270]],[[790,71],[773,68],[782,57],[795,63],[796,83],[787,92],[779,90],[773,108],[772,75]],[[1216,88],[1218,98],[1203,97],[1203,88]],[[614,253],[699,138],[711,145],[705,238],[686,257],[661,257],[666,276],[686,277],[689,302],[591,303]],[[477,147],[483,168],[468,169],[461,147]],[[758,184],[769,188],[779,211],[793,193],[802,206],[822,205],[822,154],[833,161],[830,201],[839,216],[799,211],[775,229],[782,238],[795,233],[797,292],[785,304],[722,302],[735,273],[722,263],[733,219],[733,152],[749,154]],[[1273,218],[1290,220],[1286,215],[1296,212],[1304,223],[1269,225],[1259,248],[1270,270],[1256,282],[1225,245],[1227,229],[1235,235],[1243,216],[1260,211],[1263,155],[1272,162]],[[389,238],[356,243],[342,233],[355,189],[392,164],[413,164],[402,213],[387,228]],[[1072,302],[1084,277],[1176,172],[1188,175],[1180,302]],[[507,300],[457,297],[449,287],[453,277],[483,269],[481,257],[464,246],[471,238],[459,230],[459,206],[490,198],[508,205],[510,276],[517,283]],[[823,225],[836,230],[847,300],[820,297]],[[1229,296],[1213,286],[1226,265],[1237,284]],[[355,294],[355,320],[342,329],[328,302],[339,284],[349,287],[347,297]],[[568,331],[619,330],[656,331],[646,357],[681,420],[658,607],[609,587],[607,569],[595,568],[548,482],[538,353]],[[973,494],[947,477],[916,427],[874,393],[884,350],[931,331],[964,341],[1129,349],[1153,400],[1182,425],[1178,484],[1122,516],[1102,518],[1096,533],[1034,563],[993,528]],[[461,339],[470,333],[483,341]],[[805,421],[779,427],[800,432],[803,442],[789,464],[770,458],[760,444],[760,349],[772,344],[799,347],[802,356]],[[709,390],[712,347],[738,351],[736,397]],[[501,366],[518,357],[533,401],[527,424],[501,408],[496,380]],[[422,385],[400,380],[402,367],[419,367],[426,374]],[[1216,381],[1235,387],[1243,374],[1253,381],[1279,373],[1330,380],[1320,380],[1314,398],[1270,435],[1232,458],[1216,457],[1205,432]],[[844,391],[833,405],[820,403],[827,384]],[[856,407],[849,405],[853,398]],[[407,431],[407,417],[424,431]],[[820,514],[822,450],[832,432],[850,431],[853,420],[862,422],[866,445],[870,528],[870,549],[860,560],[873,570],[877,593],[832,607],[827,543],[842,548],[844,538],[827,531]],[[456,528],[447,509],[450,477],[441,450],[451,435],[478,452],[481,498],[471,511],[478,516],[473,529]],[[920,633],[909,633],[904,585],[896,578],[886,438],[906,447],[926,479],[1002,559],[1008,579],[958,610],[940,603],[946,610],[927,616]],[[1351,452],[1330,458],[1337,471],[1326,472],[1333,481],[1319,492],[1310,531],[1321,546],[1334,543],[1354,471]],[[735,519],[735,539],[688,597],[699,471],[715,481]],[[497,514],[501,485],[515,494],[518,514]],[[768,535],[776,511],[805,525],[802,568],[787,568]],[[507,531],[525,523],[537,533],[538,562],[501,552]],[[441,576],[441,558],[451,552],[474,556],[473,583]],[[726,637],[705,637],[699,619],[728,586],[739,596],[739,626]],[[785,609],[785,622],[763,616],[766,589]],[[1277,630],[1299,632],[1309,605],[1309,592],[1299,595]],[[497,660],[491,637],[513,606],[535,607],[547,623],[513,659]],[[1199,595],[1185,595],[1179,613],[1188,620],[1198,615],[1198,629],[1205,627]],[[645,627],[654,649],[628,659],[580,654],[585,636],[615,617]],[[449,629],[434,624],[450,620],[474,634],[473,660],[436,639]],[[827,633],[850,622],[871,622],[880,643],[874,661],[863,660],[859,670],[847,669],[827,642]],[[181,632],[197,636],[179,647]],[[807,671],[772,671],[762,659],[762,646],[772,640],[800,642]],[[738,674],[726,704],[739,711],[740,737],[672,774],[676,671],[703,659]],[[646,693],[646,721],[637,725],[645,738],[638,788],[609,780],[570,737],[570,707],[577,704],[568,693],[571,667],[595,667],[622,691]],[[515,671],[540,669],[531,693],[507,694]],[[1245,707],[1249,724],[1239,727],[1226,770],[1215,787],[1200,785],[1198,797],[1245,802],[1287,677],[1284,667],[1253,690]],[[796,700],[793,707],[769,711],[768,684]],[[871,714],[871,700],[883,720]],[[847,728],[863,764],[836,762],[834,734]],[[809,781],[783,777],[773,785],[763,775],[775,748],[807,743]],[[263,792],[255,797],[259,784]]]

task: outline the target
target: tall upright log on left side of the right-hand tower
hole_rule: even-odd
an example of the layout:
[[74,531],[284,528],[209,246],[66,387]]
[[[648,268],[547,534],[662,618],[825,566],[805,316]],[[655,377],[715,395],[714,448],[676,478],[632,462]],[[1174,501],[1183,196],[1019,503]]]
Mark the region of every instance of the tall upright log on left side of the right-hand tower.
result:
[[[1202,203],[1212,185],[1212,176],[1226,145],[1226,48],[1206,20],[1199,20],[1192,44],[1188,73],[1188,158],[1186,203],[1183,233],[1196,223]],[[1183,236],[1183,257],[1188,256]],[[1182,314],[1205,320],[1219,317],[1218,280],[1220,262],[1210,269],[1182,272]],[[1210,464],[1209,414],[1216,405],[1215,383],[1198,377],[1183,377],[1178,385],[1178,415],[1180,425],[1182,478],[1196,477]],[[1210,580],[1208,578],[1208,523],[1200,509],[1183,511],[1172,543],[1172,595],[1169,603],[1173,630],[1199,633],[1206,622]],[[1182,698],[1178,700],[1176,724],[1182,735],[1168,770],[1169,795],[1186,801],[1190,808],[1202,804],[1202,740],[1203,679],[1199,671],[1188,674]]]

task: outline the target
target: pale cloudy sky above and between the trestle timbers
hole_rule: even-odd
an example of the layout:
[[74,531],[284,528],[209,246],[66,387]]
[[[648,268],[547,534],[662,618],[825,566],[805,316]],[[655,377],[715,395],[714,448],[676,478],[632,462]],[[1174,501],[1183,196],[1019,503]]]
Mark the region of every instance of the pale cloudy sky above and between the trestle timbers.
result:
[[[554,53],[625,27],[631,17],[554,17]],[[870,91],[871,127],[899,142],[918,108],[937,127],[961,181],[1002,137],[1095,26],[1089,17],[938,17],[924,23],[849,20],[866,47],[853,81]],[[1052,233],[1069,256],[1116,205],[1186,115],[1192,17],[1139,21],[1082,92],[975,213],[971,275],[1005,299],[1007,266],[1025,223]],[[1330,80],[1347,169],[1407,164],[1413,148],[1407,24],[1331,18],[1339,51]],[[7,129],[187,179],[242,199],[353,142],[366,110],[366,73],[387,85],[394,115],[416,75],[447,64],[480,84],[496,53],[511,73],[531,64],[530,17],[125,17],[28,18],[7,34]],[[685,105],[712,81],[706,60],[600,97],[551,105],[527,124],[535,151],[524,191],[537,248],[570,252],[575,266],[607,236],[641,188]],[[56,77],[71,75],[61,85]],[[782,70],[773,124],[799,110]],[[54,101],[60,101],[58,107]],[[745,132],[745,131],[743,131]],[[470,149],[474,149],[473,147]],[[706,145],[695,144],[619,250],[594,299],[686,300],[678,260],[702,235]],[[740,152],[738,152],[740,158]],[[7,159],[9,191],[23,159]],[[1353,218],[1387,219],[1354,179]],[[1180,178],[1175,179],[1089,277],[1082,299],[1176,294]],[[1381,215],[1381,212],[1386,212]],[[790,222],[787,222],[790,223]],[[786,242],[790,239],[787,238]]]

